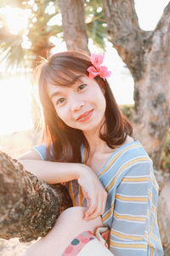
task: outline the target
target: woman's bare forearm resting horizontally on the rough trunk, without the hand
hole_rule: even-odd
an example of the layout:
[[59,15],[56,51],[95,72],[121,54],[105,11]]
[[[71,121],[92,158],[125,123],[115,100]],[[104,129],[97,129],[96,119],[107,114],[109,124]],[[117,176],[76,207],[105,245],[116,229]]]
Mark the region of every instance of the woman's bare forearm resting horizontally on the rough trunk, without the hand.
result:
[[[19,159],[26,171],[33,173],[39,179],[48,184],[65,183],[80,177],[80,172],[86,169],[79,163],[59,163],[46,160]],[[88,166],[87,166],[88,167]]]

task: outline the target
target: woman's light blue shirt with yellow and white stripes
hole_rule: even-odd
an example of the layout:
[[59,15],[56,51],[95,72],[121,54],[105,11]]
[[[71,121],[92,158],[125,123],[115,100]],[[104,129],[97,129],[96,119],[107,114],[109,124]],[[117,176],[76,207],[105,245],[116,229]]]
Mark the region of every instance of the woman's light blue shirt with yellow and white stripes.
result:
[[[45,160],[45,146],[34,149]],[[82,162],[83,158],[82,148]],[[139,141],[117,148],[97,176],[108,193],[102,219],[111,229],[111,252],[115,256],[162,256],[156,217],[159,187],[152,160]],[[73,206],[86,207],[77,180],[66,185]]]

